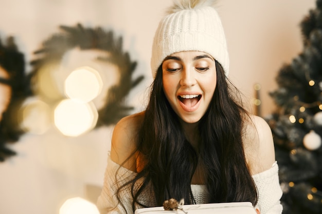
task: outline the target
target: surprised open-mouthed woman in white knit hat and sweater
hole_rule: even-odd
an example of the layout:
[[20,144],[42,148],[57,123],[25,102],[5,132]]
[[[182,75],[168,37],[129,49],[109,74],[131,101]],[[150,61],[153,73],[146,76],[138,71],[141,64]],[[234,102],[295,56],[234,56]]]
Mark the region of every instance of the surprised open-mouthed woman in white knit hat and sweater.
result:
[[250,201],[281,213],[272,133],[227,79],[229,57],[213,1],[180,1],[156,31],[147,109],[115,126],[98,207]]

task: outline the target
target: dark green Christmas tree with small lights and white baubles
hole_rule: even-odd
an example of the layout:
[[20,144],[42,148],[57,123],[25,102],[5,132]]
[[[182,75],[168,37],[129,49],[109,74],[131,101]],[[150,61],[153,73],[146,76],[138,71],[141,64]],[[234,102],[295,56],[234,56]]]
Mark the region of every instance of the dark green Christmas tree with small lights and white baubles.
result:
[[300,22],[303,50],[281,67],[266,120],[275,143],[283,214],[322,213],[322,0]]

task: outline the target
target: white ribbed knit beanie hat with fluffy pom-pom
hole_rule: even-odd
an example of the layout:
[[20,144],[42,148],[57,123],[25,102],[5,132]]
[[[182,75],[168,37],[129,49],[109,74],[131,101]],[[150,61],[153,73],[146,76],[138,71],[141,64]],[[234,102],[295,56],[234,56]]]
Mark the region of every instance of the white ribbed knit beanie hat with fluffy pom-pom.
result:
[[151,69],[180,51],[203,51],[216,59],[228,76],[229,56],[220,17],[212,0],[176,1],[160,21],[152,45]]

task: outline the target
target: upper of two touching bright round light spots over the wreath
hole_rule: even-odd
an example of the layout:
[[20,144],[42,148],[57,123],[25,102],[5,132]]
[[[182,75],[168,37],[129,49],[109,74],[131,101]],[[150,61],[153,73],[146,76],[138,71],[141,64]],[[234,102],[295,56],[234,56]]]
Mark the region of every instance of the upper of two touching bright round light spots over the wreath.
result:
[[91,67],[80,67],[71,72],[65,80],[65,94],[70,99],[87,103],[102,90],[103,82],[99,73]]

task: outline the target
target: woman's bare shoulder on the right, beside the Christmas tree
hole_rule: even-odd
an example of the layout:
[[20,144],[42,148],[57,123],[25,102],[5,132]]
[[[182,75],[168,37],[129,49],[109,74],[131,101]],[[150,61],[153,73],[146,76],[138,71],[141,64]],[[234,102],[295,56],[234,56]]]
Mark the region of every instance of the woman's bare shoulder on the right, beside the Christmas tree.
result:
[[259,116],[251,115],[247,120],[244,150],[252,174],[270,169],[275,162],[272,130]]

